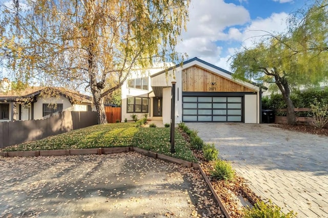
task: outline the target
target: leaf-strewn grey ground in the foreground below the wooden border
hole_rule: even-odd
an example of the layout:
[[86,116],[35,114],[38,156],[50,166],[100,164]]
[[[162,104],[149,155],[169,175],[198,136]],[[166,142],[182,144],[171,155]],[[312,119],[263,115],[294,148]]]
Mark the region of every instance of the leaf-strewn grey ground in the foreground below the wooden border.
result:
[[0,165],[0,217],[223,217],[198,170],[134,152]]

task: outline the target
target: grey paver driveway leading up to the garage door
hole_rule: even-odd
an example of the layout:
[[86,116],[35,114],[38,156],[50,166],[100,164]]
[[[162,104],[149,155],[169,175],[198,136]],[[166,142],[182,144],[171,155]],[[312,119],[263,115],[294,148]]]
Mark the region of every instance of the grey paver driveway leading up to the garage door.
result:
[[272,124],[187,123],[262,199],[298,217],[328,217],[328,138]]

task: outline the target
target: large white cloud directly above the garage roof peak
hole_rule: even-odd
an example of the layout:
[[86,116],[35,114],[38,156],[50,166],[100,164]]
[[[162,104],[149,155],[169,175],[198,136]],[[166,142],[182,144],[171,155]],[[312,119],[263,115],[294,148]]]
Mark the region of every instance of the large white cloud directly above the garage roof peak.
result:
[[248,10],[223,0],[194,1],[189,16],[188,31],[182,33],[183,41],[177,46],[177,51],[187,52],[190,58],[197,56],[204,60],[219,57],[222,48],[216,45],[216,41],[241,37],[234,29],[229,34],[224,33],[227,27],[250,21]]

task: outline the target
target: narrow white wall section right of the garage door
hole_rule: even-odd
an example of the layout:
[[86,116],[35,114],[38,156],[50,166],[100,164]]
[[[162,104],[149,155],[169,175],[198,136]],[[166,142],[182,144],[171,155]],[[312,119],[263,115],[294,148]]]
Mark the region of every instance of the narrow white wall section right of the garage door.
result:
[[258,95],[245,95],[244,97],[244,122],[258,123]]

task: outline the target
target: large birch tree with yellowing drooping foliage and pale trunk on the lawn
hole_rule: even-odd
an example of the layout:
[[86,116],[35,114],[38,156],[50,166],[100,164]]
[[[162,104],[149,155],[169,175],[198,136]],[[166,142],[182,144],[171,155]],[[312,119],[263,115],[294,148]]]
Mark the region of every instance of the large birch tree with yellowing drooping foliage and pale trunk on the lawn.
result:
[[[103,99],[133,68],[179,62],[174,52],[190,0],[13,0],[0,3],[0,59],[15,77],[87,84],[105,123]],[[107,81],[116,81],[108,83]],[[74,86],[73,86],[74,85]]]

